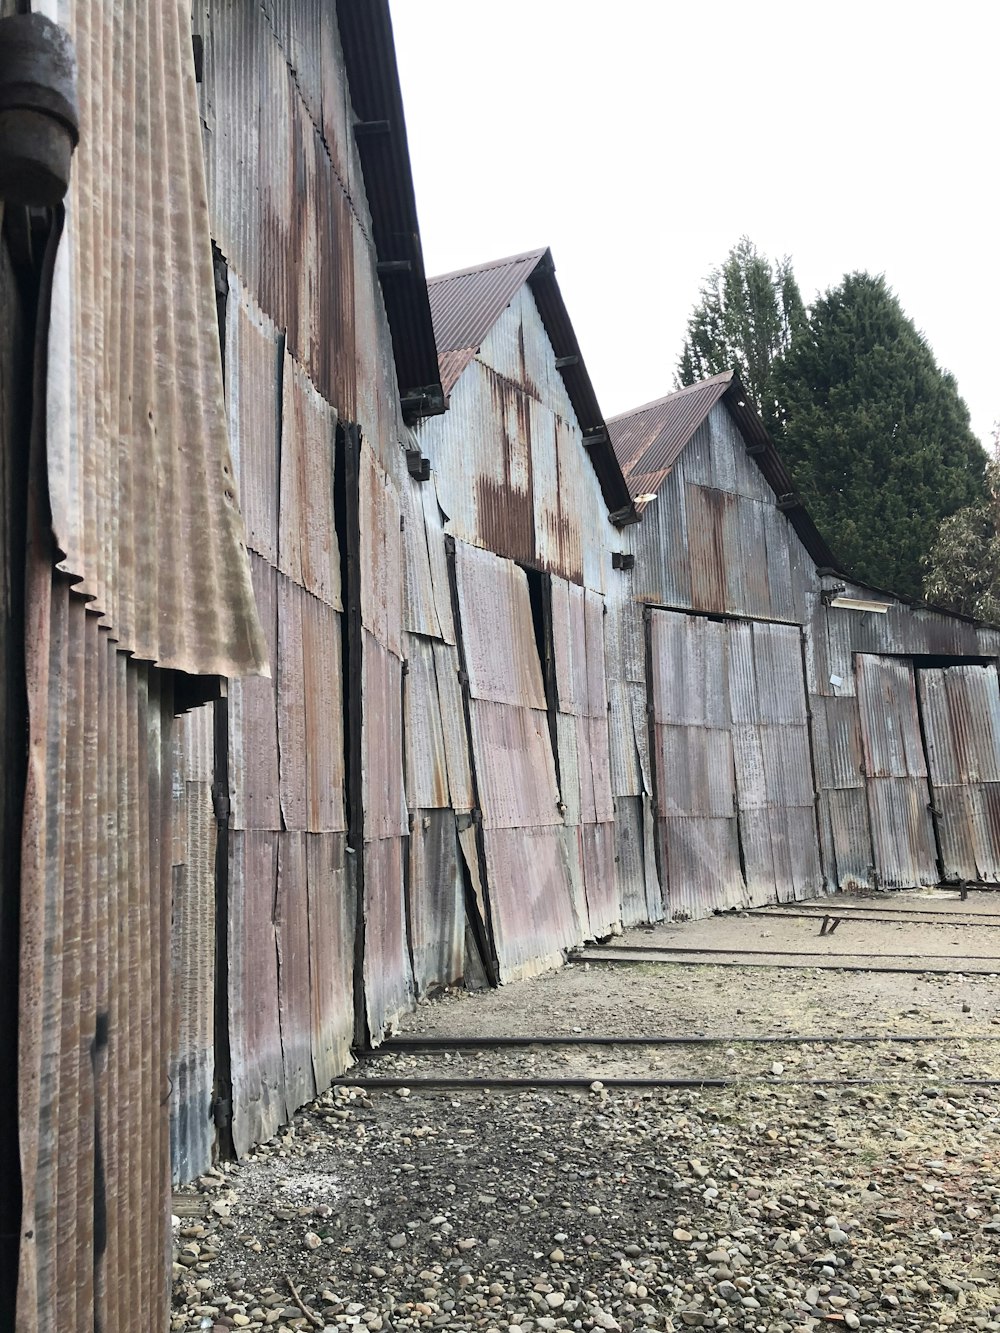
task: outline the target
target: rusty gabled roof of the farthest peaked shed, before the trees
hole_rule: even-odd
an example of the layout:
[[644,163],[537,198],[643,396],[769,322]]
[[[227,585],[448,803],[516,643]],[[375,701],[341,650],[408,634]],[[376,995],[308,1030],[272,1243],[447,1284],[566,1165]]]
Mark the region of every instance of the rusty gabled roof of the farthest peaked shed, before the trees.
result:
[[[724,403],[747,444],[747,452],[775,492],[780,509],[820,569],[843,573],[832,551],[819,535],[775,441],[751,404],[735,371],[724,371],[665,399],[647,403],[608,420],[621,471],[633,496],[655,495],[695,432],[716,403]],[[640,507],[641,508],[641,507]]]

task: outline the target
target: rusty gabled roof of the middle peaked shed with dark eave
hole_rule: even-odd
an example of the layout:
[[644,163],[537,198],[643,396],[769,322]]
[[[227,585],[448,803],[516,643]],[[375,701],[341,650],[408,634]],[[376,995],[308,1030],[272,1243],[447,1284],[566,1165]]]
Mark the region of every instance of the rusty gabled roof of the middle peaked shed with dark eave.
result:
[[441,273],[428,280],[444,392],[451,393],[455,388],[489,331],[525,283],[556,355],[556,365],[583,431],[584,445],[597,473],[611,520],[619,527],[636,523],[639,515],[559,291],[556,265],[549,249],[512,255],[509,259]]

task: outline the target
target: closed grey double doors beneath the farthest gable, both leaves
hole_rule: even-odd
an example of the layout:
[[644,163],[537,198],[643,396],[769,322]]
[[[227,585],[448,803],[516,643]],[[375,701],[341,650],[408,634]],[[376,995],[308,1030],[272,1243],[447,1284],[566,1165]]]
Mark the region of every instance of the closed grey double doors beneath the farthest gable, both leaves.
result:
[[652,611],[648,678],[671,917],[820,893],[799,627]]

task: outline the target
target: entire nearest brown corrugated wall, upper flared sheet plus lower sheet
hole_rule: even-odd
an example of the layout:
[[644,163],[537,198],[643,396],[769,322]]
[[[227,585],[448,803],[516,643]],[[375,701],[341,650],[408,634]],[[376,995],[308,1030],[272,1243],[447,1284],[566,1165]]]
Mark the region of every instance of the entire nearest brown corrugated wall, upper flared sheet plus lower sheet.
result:
[[[169,1069],[205,1026],[172,1021],[175,865],[199,856],[175,837],[173,669],[212,677],[181,681],[204,698],[267,656],[225,435],[189,13],[47,9],[76,40],[81,139],[39,313],[16,1326],[116,1333],[167,1320]],[[193,794],[191,809],[197,841]],[[197,1102],[204,1061],[180,1082]]]

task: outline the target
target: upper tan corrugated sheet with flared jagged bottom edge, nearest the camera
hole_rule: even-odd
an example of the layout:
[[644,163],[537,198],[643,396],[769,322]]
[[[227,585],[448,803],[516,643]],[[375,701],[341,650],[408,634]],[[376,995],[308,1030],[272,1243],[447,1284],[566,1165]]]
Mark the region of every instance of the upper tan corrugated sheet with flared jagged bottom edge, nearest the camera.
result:
[[[191,15],[92,0],[57,13],[76,37],[88,131],[48,348],[60,568],[137,657],[265,670],[225,429]],[[108,244],[117,236],[128,245]]]

